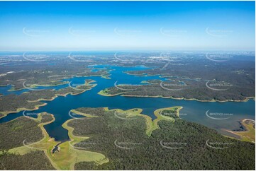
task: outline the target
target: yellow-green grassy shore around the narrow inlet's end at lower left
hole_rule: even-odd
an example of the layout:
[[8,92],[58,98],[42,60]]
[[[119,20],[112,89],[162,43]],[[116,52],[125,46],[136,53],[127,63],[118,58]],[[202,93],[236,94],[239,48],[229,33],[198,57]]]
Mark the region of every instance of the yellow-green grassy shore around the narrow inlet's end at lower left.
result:
[[[28,117],[29,119],[37,121],[41,121],[43,114],[48,114],[46,112],[42,112],[38,114],[38,118]],[[60,143],[60,141],[55,141],[54,138],[51,138],[48,132],[45,130],[44,125],[50,124],[55,121],[55,117],[50,114],[52,120],[49,122],[39,123],[43,138],[35,143],[31,143],[28,146],[20,146],[16,148],[11,148],[9,153],[16,153],[16,155],[24,155],[26,153],[30,153],[31,151],[44,151],[48,160],[56,170],[74,170],[74,165],[79,162],[98,162],[98,164],[107,163],[108,159],[105,155],[97,152],[84,151],[74,148],[69,142],[74,141],[75,143],[84,140],[87,137],[79,137],[79,136],[70,136],[70,138],[74,138],[72,141],[65,141]],[[72,119],[67,120],[62,126],[65,127],[65,124],[72,121]],[[72,135],[71,132],[72,127],[65,127],[68,130],[69,135]],[[79,140],[79,141],[77,141]],[[60,148],[60,151],[52,153],[52,149],[55,146]]]

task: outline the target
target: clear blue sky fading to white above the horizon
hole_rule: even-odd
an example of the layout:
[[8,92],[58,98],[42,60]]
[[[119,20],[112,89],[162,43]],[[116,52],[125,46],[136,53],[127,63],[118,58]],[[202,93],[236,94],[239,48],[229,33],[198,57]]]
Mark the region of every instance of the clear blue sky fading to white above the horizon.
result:
[[255,1],[1,1],[0,6],[0,51],[255,49]]

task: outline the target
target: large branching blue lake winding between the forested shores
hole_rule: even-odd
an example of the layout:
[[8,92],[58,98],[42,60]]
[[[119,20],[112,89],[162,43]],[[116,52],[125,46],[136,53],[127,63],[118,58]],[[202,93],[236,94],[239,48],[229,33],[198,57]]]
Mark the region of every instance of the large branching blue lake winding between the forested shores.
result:
[[[108,107],[109,109],[118,108],[122,110],[138,107],[143,109],[143,114],[147,114],[154,119],[155,115],[153,112],[158,108],[178,105],[183,107],[180,111],[180,117],[182,117],[182,119],[204,124],[205,126],[216,129],[221,133],[225,133],[223,129],[239,129],[238,121],[240,119],[255,119],[254,100],[249,100],[247,102],[198,102],[194,100],[172,100],[168,98],[130,98],[119,95],[106,97],[98,95],[97,93],[100,90],[112,87],[116,81],[118,81],[118,84],[140,84],[141,81],[147,81],[149,79],[165,80],[165,78],[160,78],[159,76],[132,76],[123,73],[123,71],[145,70],[145,67],[143,66],[94,66],[96,69],[104,67],[114,69],[111,71],[111,79],[105,79],[99,76],[74,77],[67,79],[67,81],[72,81],[72,83],[77,84],[84,83],[84,79],[93,79],[96,81],[97,86],[79,95],[67,95],[67,97],[58,97],[50,102],[46,101],[48,105],[40,107],[39,110],[33,111],[34,113],[49,112],[54,114],[55,122],[46,125],[45,129],[51,137],[55,138],[56,141],[66,141],[69,139],[67,130],[62,128],[62,124],[67,121],[67,119],[71,119],[69,111],[77,107]],[[62,86],[62,88],[65,86]],[[206,116],[207,111],[208,114],[229,114],[228,119],[226,119],[226,116],[221,115],[213,116],[217,119],[211,119]],[[23,112],[8,114],[7,117],[0,119],[0,123],[8,122],[22,115]]]

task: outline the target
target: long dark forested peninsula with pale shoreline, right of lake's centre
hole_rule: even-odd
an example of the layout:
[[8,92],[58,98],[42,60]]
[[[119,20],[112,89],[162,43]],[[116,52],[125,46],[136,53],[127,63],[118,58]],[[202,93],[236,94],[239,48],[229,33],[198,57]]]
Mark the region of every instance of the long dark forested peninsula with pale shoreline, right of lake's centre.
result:
[[[253,97],[255,90],[253,85],[246,86],[245,83],[228,84],[218,81],[186,80],[186,81],[148,81],[143,85],[117,85],[101,91],[101,95],[125,96],[153,96],[167,98],[185,98],[196,100],[246,100]],[[211,86],[214,85],[214,86]],[[217,85],[217,86],[216,86]],[[218,86],[221,85],[221,86]],[[211,89],[212,88],[212,89]],[[217,90],[213,90],[213,89]],[[220,90],[218,90],[220,89]]]

